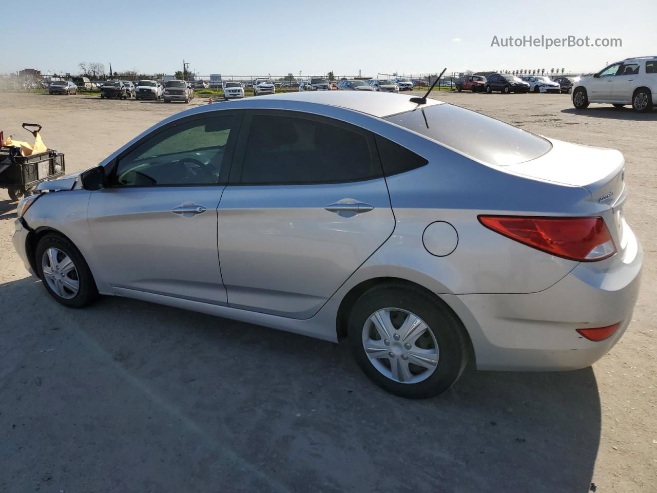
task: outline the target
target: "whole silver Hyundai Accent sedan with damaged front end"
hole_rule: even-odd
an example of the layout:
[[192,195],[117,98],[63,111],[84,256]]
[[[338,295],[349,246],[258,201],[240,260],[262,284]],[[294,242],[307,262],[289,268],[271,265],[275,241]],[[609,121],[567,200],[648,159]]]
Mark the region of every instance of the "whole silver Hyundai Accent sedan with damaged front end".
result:
[[126,296],[344,341],[424,398],[468,360],[576,369],[618,342],[643,261],[623,168],[439,101],[288,93],[181,112],[39,185],[13,243],[66,306]]

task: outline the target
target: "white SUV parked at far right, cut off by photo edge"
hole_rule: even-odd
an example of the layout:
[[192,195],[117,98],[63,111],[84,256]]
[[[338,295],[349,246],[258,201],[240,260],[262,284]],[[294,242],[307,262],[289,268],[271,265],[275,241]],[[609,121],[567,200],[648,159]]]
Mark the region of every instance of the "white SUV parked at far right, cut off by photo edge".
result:
[[639,112],[652,110],[657,103],[657,55],[612,63],[593,77],[581,78],[572,89],[573,105],[584,109],[589,103],[625,105]]

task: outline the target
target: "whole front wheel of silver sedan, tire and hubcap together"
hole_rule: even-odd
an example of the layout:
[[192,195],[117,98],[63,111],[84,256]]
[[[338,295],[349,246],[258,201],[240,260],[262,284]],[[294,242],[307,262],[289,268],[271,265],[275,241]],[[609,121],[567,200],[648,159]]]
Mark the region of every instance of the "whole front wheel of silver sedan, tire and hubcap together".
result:
[[69,308],[82,308],[98,296],[91,270],[78,248],[68,239],[48,234],[35,252],[37,275],[46,291]]

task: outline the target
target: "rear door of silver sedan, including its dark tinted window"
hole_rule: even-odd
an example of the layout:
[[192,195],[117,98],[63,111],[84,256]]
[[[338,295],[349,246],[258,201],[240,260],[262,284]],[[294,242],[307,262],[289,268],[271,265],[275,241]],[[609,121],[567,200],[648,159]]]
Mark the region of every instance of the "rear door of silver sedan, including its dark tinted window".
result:
[[373,136],[275,110],[244,128],[219,204],[229,305],[309,318],[394,229]]

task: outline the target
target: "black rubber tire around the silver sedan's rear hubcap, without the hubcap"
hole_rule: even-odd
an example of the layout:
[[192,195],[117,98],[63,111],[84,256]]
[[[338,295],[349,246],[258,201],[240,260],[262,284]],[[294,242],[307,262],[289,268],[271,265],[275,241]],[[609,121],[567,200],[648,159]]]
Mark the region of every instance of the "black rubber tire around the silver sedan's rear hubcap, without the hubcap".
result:
[[[436,338],[438,365],[426,379],[418,383],[392,380],[368,358],[363,348],[363,327],[372,314],[383,308],[400,308],[419,316]],[[449,307],[419,287],[399,283],[378,285],[358,298],[349,316],[348,338],[357,364],[369,379],[392,394],[410,399],[429,398],[447,390],[459,379],[468,360],[465,329]]]

